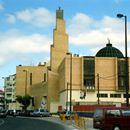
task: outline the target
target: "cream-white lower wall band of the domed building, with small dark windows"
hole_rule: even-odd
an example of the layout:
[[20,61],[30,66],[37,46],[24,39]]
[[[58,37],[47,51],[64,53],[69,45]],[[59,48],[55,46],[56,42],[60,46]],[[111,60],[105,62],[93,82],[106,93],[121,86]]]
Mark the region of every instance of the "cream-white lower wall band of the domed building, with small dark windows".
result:
[[[68,94],[67,94],[68,93]],[[86,92],[85,99],[81,99],[81,91],[73,90],[72,91],[72,105],[87,105],[87,104],[98,104],[98,92]],[[126,98],[124,98],[125,92],[116,92],[116,91],[101,91],[99,97],[100,104],[106,105],[120,105],[121,103],[126,102]],[[68,95],[68,98],[67,98]],[[118,95],[117,97],[115,97]],[[63,106],[63,109],[66,109],[66,102],[70,102],[70,91],[64,91],[60,94],[60,104]]]

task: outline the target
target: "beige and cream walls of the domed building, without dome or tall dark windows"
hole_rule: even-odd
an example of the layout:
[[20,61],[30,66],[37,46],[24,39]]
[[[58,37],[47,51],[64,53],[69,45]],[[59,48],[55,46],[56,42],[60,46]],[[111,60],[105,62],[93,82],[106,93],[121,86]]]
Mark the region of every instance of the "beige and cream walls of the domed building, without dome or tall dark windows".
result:
[[[93,58],[95,62],[93,86],[84,85],[84,59]],[[122,104],[126,102],[124,97],[125,86],[120,89],[118,84],[118,61],[123,58],[116,57],[72,57],[72,104],[97,104],[98,91],[100,104]],[[70,102],[70,56],[67,56],[59,67],[60,104],[66,108],[66,102]],[[128,60],[130,64],[130,58]],[[130,71],[130,68],[129,68]],[[99,74],[99,81],[97,74]],[[130,76],[130,75],[129,75]],[[99,84],[98,84],[99,82]],[[130,82],[130,80],[129,80]],[[68,86],[67,86],[68,83]],[[67,88],[68,87],[68,88]],[[99,87],[99,90],[98,90]],[[86,92],[84,99],[80,93]],[[64,102],[63,102],[64,101]]]

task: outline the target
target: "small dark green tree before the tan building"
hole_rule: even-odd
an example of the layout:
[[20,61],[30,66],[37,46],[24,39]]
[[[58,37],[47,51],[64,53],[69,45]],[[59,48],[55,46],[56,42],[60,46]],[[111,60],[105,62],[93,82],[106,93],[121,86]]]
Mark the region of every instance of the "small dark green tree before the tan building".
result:
[[27,107],[30,105],[31,99],[32,99],[32,97],[29,95],[25,95],[25,96],[18,95],[16,98],[16,101],[18,101],[20,104],[23,105],[22,106],[23,110],[26,110]]

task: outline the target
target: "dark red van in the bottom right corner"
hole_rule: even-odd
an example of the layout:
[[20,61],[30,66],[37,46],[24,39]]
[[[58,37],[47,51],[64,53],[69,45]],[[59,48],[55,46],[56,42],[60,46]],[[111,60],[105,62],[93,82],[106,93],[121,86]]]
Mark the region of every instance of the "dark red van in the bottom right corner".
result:
[[101,130],[130,130],[130,108],[98,108],[93,127]]

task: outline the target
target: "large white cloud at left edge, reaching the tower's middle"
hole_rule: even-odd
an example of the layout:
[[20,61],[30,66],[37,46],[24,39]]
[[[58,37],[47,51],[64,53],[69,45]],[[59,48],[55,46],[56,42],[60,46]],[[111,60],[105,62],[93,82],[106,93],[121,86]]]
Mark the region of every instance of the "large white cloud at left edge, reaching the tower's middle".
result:
[[[1,34],[1,33],[0,33]],[[21,35],[18,30],[10,30],[0,36],[0,66],[20,57],[28,57],[30,54],[49,54],[49,37],[41,34]],[[29,60],[29,59],[28,59]]]

